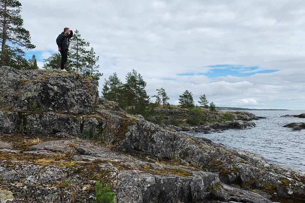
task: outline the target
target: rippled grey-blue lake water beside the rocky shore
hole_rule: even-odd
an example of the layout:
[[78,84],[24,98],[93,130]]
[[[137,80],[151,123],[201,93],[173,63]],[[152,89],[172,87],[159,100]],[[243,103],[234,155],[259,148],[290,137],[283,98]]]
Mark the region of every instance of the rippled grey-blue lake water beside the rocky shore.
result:
[[193,134],[204,137],[215,143],[224,144],[227,148],[238,148],[262,155],[267,162],[284,165],[305,171],[305,130],[291,131],[282,127],[292,122],[304,122],[295,117],[282,115],[299,115],[304,111],[249,111],[256,116],[267,119],[254,120],[256,127],[246,130],[226,130],[223,133]]

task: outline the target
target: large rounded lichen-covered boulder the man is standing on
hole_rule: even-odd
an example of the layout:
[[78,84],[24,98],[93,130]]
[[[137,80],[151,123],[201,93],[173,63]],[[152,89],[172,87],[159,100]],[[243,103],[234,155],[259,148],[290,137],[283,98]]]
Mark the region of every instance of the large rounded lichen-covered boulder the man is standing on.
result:
[[[0,104],[13,110],[90,113],[98,103],[95,83],[76,73],[0,67]],[[35,103],[36,105],[35,105]]]

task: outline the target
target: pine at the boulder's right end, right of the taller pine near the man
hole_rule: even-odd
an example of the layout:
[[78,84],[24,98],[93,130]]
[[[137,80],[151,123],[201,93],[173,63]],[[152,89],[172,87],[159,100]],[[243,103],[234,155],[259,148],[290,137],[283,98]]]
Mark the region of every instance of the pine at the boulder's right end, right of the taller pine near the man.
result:
[[85,56],[86,67],[84,69],[84,74],[91,76],[99,86],[99,78],[103,75],[103,73],[99,73],[99,65],[96,65],[98,60],[99,56],[95,56],[93,47],[91,47],[90,51],[88,51],[87,55]]

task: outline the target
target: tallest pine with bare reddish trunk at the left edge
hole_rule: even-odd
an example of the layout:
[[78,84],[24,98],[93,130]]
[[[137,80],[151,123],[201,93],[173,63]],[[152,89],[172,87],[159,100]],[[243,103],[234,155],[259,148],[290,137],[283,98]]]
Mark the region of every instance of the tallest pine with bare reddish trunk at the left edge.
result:
[[[0,1],[0,35],[1,35],[1,65],[16,66],[19,69],[20,60],[23,65],[26,59],[24,51],[20,49],[34,49],[35,45],[31,44],[30,32],[23,28],[23,19],[20,15],[21,3],[17,0]],[[23,67],[27,69],[27,67]]]

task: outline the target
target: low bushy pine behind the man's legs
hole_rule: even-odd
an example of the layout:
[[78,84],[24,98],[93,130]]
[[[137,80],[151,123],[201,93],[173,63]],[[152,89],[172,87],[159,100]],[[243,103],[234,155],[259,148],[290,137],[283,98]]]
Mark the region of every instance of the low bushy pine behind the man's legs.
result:
[[[48,59],[44,59],[43,60],[44,64],[43,67],[44,69],[50,69],[50,70],[60,70],[60,66],[61,66],[61,54],[60,53],[55,53],[55,54],[51,54],[50,57],[48,57]],[[68,72],[73,71],[73,69],[71,69],[71,61],[68,58],[66,64],[65,64],[65,69]]]

